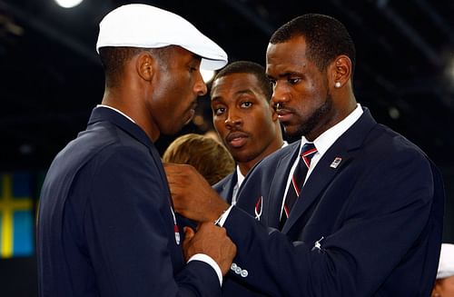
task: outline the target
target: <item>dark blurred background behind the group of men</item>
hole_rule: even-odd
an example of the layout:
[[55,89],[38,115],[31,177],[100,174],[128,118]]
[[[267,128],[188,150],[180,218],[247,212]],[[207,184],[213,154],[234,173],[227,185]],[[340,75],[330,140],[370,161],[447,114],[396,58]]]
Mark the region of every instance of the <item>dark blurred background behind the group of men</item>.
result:
[[[59,0],[64,1],[64,0]],[[75,0],[73,0],[75,1]],[[80,2],[80,0],[79,0]],[[44,174],[99,104],[95,42],[119,0],[0,0],[0,296],[36,296],[35,210]],[[355,94],[418,144],[443,173],[446,242],[454,243],[454,1],[135,1],[182,15],[230,61],[265,63],[272,32],[297,15],[338,18],[357,46]],[[63,6],[62,6],[63,5]],[[208,96],[180,134],[212,130]],[[180,135],[178,134],[178,135]],[[157,142],[161,153],[178,135]],[[402,231],[405,232],[405,231]]]

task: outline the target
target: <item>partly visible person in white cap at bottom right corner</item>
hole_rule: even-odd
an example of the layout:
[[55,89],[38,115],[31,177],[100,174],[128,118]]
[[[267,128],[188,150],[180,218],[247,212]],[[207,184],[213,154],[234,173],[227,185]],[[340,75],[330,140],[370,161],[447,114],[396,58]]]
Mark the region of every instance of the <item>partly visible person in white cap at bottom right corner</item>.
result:
[[454,297],[454,244],[441,243],[439,270],[431,297]]

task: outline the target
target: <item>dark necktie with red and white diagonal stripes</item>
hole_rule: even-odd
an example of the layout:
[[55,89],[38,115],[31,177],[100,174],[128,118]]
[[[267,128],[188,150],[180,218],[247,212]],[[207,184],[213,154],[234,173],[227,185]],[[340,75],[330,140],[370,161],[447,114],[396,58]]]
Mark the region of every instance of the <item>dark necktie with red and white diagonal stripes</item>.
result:
[[317,153],[317,149],[312,143],[304,144],[301,148],[300,158],[295,171],[293,172],[293,176],[291,177],[291,184],[287,191],[287,196],[285,196],[283,212],[281,213],[281,222],[279,224],[281,230],[290,216],[291,208],[300,196],[302,185],[306,179],[309,166],[311,165],[311,159],[315,153]]

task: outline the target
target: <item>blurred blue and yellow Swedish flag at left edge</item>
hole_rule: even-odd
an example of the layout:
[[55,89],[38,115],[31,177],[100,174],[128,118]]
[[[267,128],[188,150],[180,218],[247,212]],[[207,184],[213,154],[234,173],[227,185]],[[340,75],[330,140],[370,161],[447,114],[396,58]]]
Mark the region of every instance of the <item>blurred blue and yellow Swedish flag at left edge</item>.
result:
[[0,175],[0,258],[34,252],[33,202],[29,173]]

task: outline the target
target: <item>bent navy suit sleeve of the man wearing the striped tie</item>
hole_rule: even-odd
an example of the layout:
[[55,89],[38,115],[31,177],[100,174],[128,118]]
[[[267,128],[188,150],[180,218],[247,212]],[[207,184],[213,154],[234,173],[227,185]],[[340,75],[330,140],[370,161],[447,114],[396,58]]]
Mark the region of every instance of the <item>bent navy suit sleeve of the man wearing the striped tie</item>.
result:
[[[248,272],[242,282],[271,296],[350,297],[377,292],[413,246],[427,244],[434,197],[425,157],[414,150],[384,157],[387,162],[354,169],[356,175],[342,180],[343,188],[333,182],[333,189],[325,190],[345,199],[343,209],[336,211],[344,214],[319,245],[291,241],[233,207],[224,227],[237,245],[234,262]],[[311,227],[317,228],[306,226]]]

